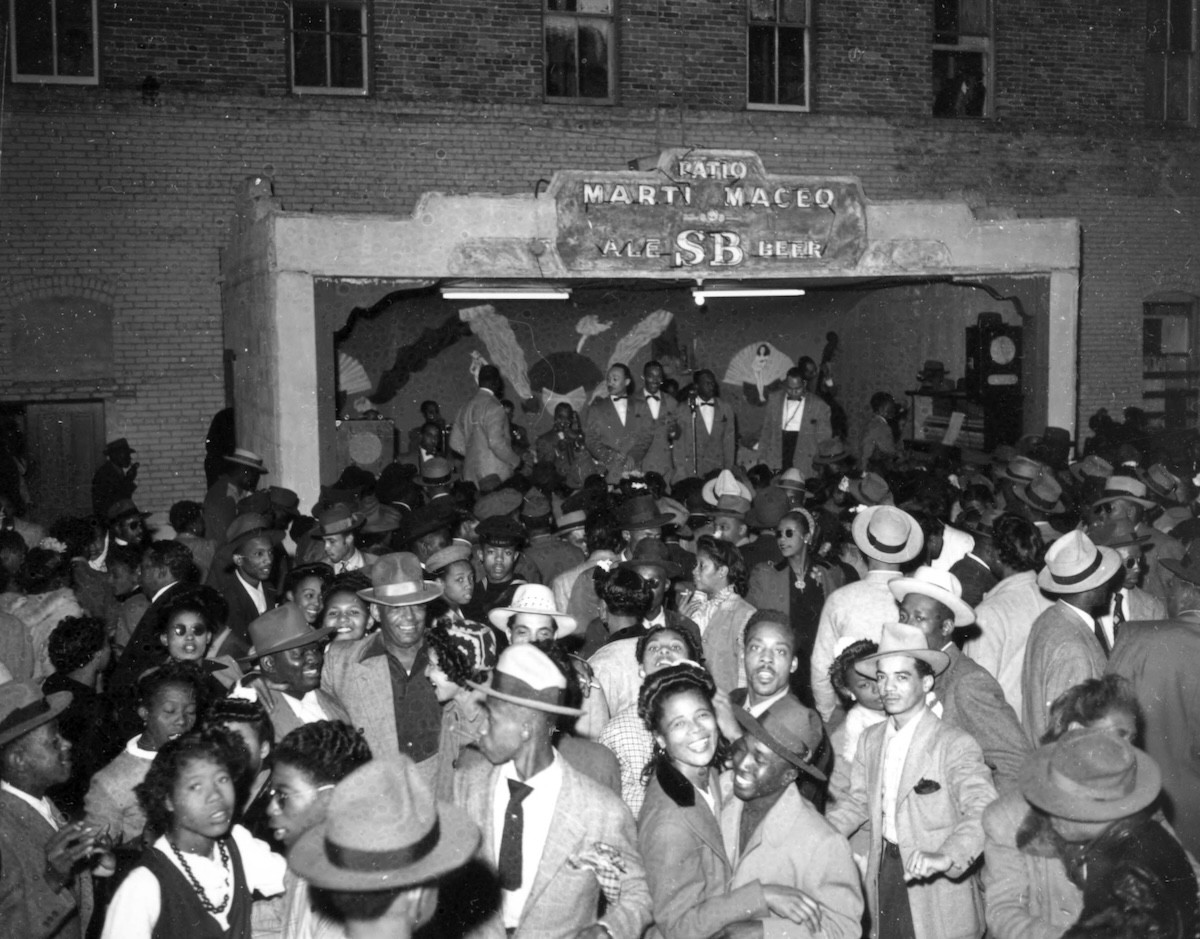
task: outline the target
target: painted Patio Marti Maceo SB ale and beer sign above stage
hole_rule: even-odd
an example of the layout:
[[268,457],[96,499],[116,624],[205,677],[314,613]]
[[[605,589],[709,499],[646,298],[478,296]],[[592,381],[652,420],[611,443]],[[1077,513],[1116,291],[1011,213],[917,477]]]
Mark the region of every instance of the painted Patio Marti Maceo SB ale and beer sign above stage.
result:
[[797,275],[852,268],[865,199],[850,177],[768,174],[749,150],[665,150],[653,171],[560,171],[548,193],[571,271]]

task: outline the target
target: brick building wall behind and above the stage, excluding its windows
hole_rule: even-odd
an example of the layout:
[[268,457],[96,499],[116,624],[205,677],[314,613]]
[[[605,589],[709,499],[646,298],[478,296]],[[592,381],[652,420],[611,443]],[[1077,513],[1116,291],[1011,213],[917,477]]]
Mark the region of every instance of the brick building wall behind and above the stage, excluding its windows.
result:
[[[326,6],[365,11],[365,94],[292,90],[290,11]],[[762,0],[616,0],[600,17],[605,103],[547,98],[547,23],[576,5],[546,6],[116,0],[95,7],[94,76],[60,68],[83,83],[41,82],[36,64],[18,74],[17,32],[32,34],[11,18],[0,405],[102,403],[100,436],[134,442],[139,497],[163,509],[202,491],[204,432],[227,397],[220,257],[245,178],[269,177],[294,211],[408,215],[424,192],[534,193],[556,171],[707,146],[857,177],[872,201],[1078,219],[1076,424],[1086,433],[1102,406],[1153,409],[1144,304],[1200,294],[1200,88],[1195,54],[1177,56],[1183,109],[1148,113],[1163,95],[1148,88],[1159,38],[1142,0],[959,0],[964,18],[983,10],[971,48],[984,50],[986,103],[958,119],[932,116],[947,0],[780,0],[767,19],[805,30],[806,109],[748,106],[748,16],[766,16]],[[1169,91],[1177,102],[1178,83]],[[62,303],[47,312],[49,300]]]

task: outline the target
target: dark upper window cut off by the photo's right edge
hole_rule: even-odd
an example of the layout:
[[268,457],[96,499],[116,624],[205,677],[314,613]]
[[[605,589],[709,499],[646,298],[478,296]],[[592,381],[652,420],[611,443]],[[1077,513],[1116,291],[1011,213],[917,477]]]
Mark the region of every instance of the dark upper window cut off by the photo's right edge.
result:
[[1195,119],[1195,0],[1146,2],[1146,119]]

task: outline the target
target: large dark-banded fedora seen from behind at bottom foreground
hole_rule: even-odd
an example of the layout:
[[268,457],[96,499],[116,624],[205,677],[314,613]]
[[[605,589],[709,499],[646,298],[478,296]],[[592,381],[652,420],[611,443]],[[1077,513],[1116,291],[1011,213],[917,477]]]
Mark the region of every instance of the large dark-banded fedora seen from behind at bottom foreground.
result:
[[462,867],[479,839],[464,811],[433,799],[410,759],[376,758],[334,788],[325,820],[300,837],[288,865],[325,890],[396,890]]

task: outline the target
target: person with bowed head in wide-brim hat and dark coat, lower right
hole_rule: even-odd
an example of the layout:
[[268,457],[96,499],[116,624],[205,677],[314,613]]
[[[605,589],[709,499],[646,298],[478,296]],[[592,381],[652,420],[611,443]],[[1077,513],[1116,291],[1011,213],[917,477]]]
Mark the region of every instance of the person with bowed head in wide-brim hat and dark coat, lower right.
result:
[[1084,891],[1067,937],[1200,931],[1187,854],[1150,814],[1160,789],[1154,760],[1103,730],[1067,734],[1030,756],[1021,793],[1049,817],[1068,873]]

